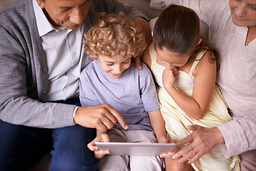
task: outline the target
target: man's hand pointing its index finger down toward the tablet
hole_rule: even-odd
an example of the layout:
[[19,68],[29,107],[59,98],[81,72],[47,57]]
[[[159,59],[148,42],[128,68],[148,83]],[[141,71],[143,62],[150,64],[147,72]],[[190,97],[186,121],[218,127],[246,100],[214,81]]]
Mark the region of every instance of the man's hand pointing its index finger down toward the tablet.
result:
[[106,132],[117,122],[125,130],[128,129],[128,125],[121,113],[118,113],[116,109],[108,104],[78,107],[74,121],[76,124],[86,128],[96,128],[99,132]]

